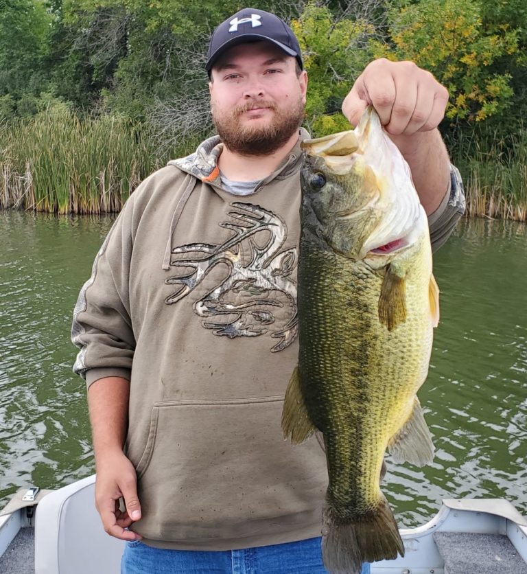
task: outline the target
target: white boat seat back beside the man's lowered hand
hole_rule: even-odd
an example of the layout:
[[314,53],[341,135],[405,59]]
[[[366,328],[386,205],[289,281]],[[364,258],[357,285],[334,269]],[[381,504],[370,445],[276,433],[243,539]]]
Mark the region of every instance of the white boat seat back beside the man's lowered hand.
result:
[[115,574],[124,541],[108,536],[95,509],[95,474],[38,503],[35,574]]

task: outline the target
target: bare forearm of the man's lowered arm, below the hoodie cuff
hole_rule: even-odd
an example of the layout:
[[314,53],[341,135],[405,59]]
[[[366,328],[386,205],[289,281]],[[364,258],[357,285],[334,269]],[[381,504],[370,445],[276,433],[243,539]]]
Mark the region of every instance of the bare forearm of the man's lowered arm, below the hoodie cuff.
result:
[[96,380],[88,389],[95,464],[112,452],[122,452],[128,430],[130,381],[121,377]]

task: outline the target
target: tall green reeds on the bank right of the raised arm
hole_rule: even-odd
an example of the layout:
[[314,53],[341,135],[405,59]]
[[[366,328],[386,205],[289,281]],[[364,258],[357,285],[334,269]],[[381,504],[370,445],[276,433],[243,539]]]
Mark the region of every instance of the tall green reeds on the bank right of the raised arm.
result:
[[467,215],[527,221],[527,128],[462,132],[453,161],[465,183]]

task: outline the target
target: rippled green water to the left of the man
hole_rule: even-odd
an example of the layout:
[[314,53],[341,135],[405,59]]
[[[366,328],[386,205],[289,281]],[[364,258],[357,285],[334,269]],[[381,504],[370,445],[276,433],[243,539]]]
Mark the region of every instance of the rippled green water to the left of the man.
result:
[[0,507],[20,486],[54,488],[93,472],[69,330],[111,222],[0,214]]

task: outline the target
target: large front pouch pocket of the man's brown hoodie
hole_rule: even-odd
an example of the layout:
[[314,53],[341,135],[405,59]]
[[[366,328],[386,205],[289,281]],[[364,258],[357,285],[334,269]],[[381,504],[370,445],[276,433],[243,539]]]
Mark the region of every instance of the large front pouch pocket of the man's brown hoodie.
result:
[[137,464],[152,540],[258,536],[320,519],[325,455],[281,436],[283,397],[155,403]]

